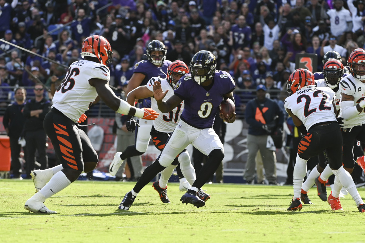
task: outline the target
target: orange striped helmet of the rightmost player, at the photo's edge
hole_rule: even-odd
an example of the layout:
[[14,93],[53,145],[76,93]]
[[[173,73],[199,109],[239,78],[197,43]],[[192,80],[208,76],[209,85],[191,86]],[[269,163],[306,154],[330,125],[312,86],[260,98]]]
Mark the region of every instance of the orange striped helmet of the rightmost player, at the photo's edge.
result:
[[365,80],[365,50],[357,48],[351,52],[347,64],[352,76],[363,81]]

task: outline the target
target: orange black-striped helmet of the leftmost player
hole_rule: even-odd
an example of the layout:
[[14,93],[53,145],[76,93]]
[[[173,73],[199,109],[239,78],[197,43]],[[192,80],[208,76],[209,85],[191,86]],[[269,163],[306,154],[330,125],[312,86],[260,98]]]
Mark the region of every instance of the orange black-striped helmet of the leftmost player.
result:
[[92,35],[84,40],[81,57],[96,57],[101,64],[107,65],[112,60],[112,48],[107,39],[100,35]]

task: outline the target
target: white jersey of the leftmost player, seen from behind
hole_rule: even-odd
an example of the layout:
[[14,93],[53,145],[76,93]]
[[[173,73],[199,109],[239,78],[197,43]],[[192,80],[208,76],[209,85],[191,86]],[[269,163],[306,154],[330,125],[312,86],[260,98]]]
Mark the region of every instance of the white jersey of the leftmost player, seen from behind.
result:
[[97,97],[95,87],[89,84],[90,79],[110,80],[107,66],[87,60],[73,62],[67,70],[64,81],[53,96],[53,106],[77,122],[78,118],[89,109]]

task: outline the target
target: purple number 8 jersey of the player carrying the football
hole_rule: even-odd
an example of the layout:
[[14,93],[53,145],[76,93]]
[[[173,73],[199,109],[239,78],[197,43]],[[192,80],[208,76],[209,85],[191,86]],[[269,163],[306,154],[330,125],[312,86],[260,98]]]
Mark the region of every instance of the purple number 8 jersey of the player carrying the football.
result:
[[181,119],[195,128],[211,128],[223,95],[234,88],[235,83],[226,71],[215,71],[213,86],[209,90],[196,83],[190,74],[181,77],[174,88],[174,94],[185,102]]

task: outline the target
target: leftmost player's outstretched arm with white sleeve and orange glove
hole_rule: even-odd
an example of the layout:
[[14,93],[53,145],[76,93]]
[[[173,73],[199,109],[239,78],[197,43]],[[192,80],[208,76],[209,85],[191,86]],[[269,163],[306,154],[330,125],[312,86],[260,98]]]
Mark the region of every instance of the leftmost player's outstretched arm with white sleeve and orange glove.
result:
[[90,79],[89,84],[95,87],[97,94],[103,99],[104,103],[109,106],[112,110],[139,118],[154,120],[157,118],[159,113],[151,108],[138,109],[134,106],[129,105],[122,99],[115,96],[114,92],[110,89],[107,80],[103,79]]

